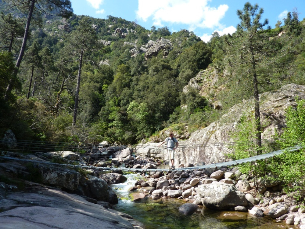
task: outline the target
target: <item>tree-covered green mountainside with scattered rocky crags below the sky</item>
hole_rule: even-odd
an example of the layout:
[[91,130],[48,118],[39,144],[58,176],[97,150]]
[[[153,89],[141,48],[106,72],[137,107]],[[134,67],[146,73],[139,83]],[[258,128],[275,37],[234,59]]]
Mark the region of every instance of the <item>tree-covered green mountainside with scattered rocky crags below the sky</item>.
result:
[[[297,12],[271,29],[246,3],[234,34],[215,32],[205,43],[185,29],[77,16],[69,5],[36,0],[45,8],[34,11],[24,44],[29,12],[17,2],[0,3],[1,136],[12,129],[20,140],[135,144],[164,128],[192,132],[243,99],[305,83],[305,21]],[[202,70],[206,91],[187,86]],[[218,78],[208,86],[211,74]]]

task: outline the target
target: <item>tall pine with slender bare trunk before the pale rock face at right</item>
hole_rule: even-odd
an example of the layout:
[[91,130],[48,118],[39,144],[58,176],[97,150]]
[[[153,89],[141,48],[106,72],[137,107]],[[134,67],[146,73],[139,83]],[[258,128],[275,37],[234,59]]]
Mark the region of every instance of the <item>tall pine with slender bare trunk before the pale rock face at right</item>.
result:
[[[250,79],[252,82],[253,97],[255,100],[255,120],[256,120],[256,144],[257,154],[261,154],[261,122],[260,122],[260,99],[259,99],[259,64],[266,55],[264,26],[268,20],[260,22],[264,10],[259,9],[257,4],[251,5],[247,2],[243,10],[237,10],[240,23],[237,31],[232,36],[233,39],[226,39],[229,44],[229,53],[232,54],[230,64],[237,70],[241,77]],[[238,71],[239,68],[242,71]]]

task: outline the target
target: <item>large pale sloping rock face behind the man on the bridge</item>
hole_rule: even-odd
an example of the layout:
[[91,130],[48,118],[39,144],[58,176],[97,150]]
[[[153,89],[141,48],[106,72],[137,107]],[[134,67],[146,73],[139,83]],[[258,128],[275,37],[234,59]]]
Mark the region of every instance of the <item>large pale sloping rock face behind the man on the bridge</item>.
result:
[[[276,131],[281,133],[285,126],[285,110],[287,107],[296,106],[296,96],[305,99],[305,86],[288,84],[276,91],[260,94],[261,122],[265,125],[263,140],[273,138]],[[195,165],[202,162],[212,164],[228,161],[226,154],[232,151],[229,147],[233,141],[230,133],[235,130],[242,115],[253,112],[254,100],[244,100],[233,106],[217,122],[193,132],[187,140],[179,140],[175,164],[178,166],[180,163]],[[166,158],[166,149],[156,147],[157,145],[158,143],[139,144],[136,151],[142,156]]]

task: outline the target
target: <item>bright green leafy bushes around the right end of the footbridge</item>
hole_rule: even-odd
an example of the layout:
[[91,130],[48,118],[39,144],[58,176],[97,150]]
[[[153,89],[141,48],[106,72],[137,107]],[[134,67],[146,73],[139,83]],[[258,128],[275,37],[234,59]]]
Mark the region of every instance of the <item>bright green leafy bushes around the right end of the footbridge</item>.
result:
[[[296,145],[305,146],[305,100],[296,100],[296,107],[289,107],[286,112],[286,127],[276,141],[282,149]],[[256,155],[255,122],[252,118],[243,116],[236,126],[236,132],[232,133],[235,141],[233,152],[228,157],[237,160]],[[263,145],[263,152],[272,151],[270,146]],[[275,156],[274,158],[257,161],[255,163],[245,163],[239,165],[242,173],[248,173],[254,178],[277,177],[284,185],[286,192],[294,192],[295,198],[303,200],[305,198],[304,172],[305,172],[305,150],[288,151]]]

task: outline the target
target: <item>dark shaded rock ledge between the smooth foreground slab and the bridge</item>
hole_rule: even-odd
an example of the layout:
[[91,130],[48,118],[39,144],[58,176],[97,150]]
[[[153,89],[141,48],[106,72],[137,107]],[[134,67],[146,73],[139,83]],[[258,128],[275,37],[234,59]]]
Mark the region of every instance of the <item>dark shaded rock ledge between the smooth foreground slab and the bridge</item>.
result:
[[[14,154],[15,155],[15,154]],[[16,156],[21,156],[17,154]],[[46,155],[43,153],[43,155]],[[28,155],[27,157],[33,157]],[[40,159],[41,160],[41,159]],[[117,195],[105,180],[96,176],[71,169],[67,166],[55,165],[54,163],[36,163],[7,161],[0,163],[0,174],[10,177],[18,176],[24,180],[31,180],[40,184],[59,188],[70,193],[75,193],[99,201],[112,204],[118,202]],[[41,160],[42,161],[42,160]],[[45,161],[43,161],[45,162]],[[89,172],[89,171],[88,171]],[[92,171],[94,173],[94,171]],[[123,178],[121,178],[123,180]]]

